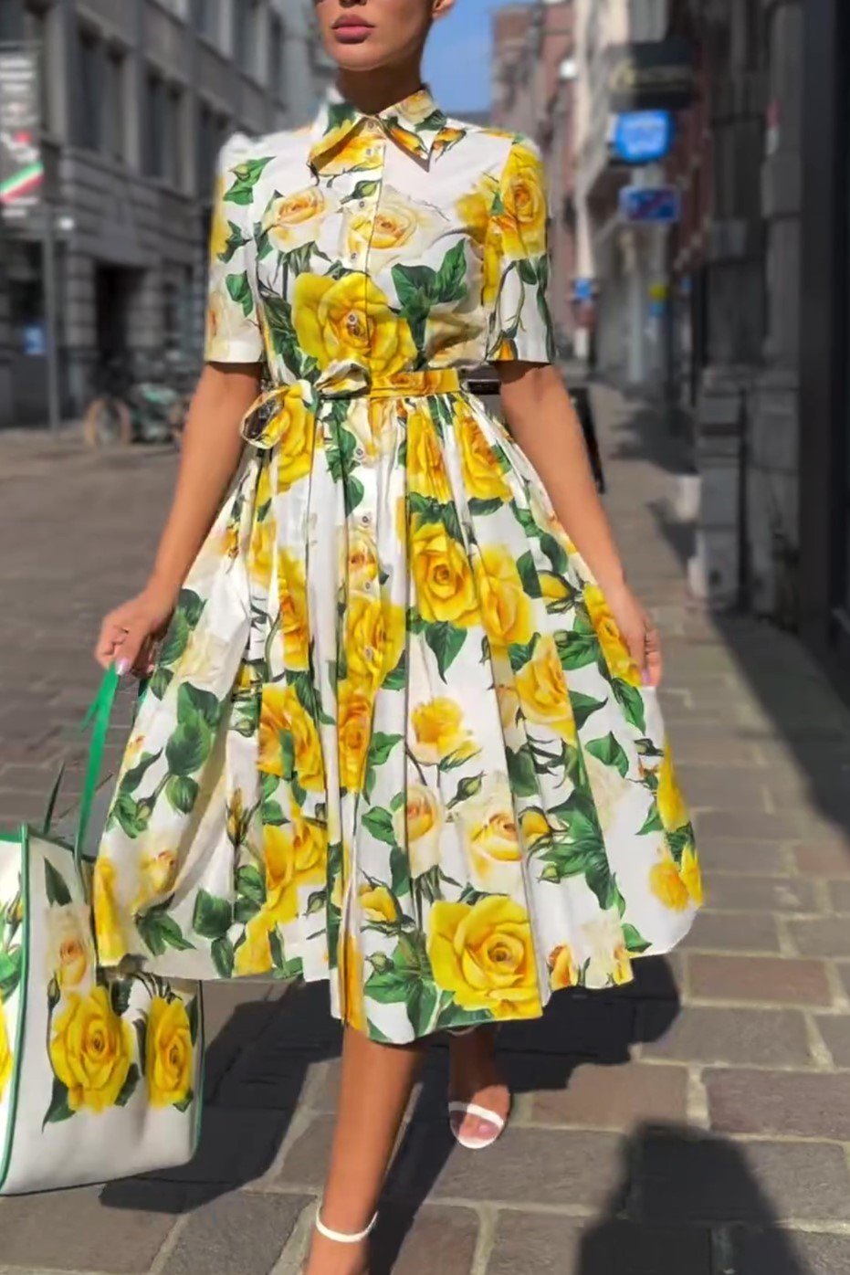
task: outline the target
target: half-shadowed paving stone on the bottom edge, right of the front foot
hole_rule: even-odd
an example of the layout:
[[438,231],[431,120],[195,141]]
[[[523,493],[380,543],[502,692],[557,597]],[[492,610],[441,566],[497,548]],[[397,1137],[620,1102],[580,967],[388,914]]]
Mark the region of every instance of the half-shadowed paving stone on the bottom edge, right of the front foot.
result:
[[605,1218],[576,1227],[565,1218],[505,1211],[487,1275],[712,1275],[711,1234],[696,1227],[652,1230]]

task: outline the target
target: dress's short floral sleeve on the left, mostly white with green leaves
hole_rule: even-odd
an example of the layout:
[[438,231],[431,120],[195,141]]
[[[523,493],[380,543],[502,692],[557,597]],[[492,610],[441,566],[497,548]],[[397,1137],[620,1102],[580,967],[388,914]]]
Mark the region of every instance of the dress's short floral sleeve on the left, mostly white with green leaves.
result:
[[236,134],[218,158],[209,245],[209,298],[204,356],[215,363],[256,363],[264,357],[256,297],[254,185],[264,161]]

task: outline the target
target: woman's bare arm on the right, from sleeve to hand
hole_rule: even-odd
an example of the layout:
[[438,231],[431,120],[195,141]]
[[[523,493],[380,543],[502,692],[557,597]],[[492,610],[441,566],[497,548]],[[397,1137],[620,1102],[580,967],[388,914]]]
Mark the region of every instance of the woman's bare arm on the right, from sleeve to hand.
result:
[[626,581],[581,425],[561,374],[551,365],[507,361],[496,367],[512,436],[540,476],[559,523],[605,594],[644,682],[658,686],[658,630]]

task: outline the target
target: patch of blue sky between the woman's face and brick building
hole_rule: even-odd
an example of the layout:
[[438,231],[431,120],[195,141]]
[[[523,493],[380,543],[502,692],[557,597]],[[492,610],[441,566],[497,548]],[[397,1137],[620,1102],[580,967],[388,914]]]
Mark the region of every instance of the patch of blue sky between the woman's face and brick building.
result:
[[454,13],[435,27],[426,76],[446,111],[489,106],[491,24],[505,0],[456,0]]

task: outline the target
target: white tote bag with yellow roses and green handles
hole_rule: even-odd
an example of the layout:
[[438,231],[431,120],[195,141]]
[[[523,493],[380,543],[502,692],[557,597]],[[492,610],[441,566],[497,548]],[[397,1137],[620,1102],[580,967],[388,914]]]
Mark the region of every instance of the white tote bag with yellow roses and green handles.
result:
[[185,1164],[200,1133],[199,984],[97,961],[83,847],[117,682],[92,709],[74,845],[0,834],[0,1195]]

